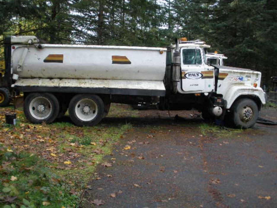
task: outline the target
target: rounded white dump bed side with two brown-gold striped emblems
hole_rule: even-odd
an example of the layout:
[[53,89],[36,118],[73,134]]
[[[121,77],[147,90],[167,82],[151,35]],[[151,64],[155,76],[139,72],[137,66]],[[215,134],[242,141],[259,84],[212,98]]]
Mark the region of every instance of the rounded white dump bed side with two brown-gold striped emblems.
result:
[[166,48],[157,47],[15,44],[11,61],[19,79],[162,81],[165,59]]

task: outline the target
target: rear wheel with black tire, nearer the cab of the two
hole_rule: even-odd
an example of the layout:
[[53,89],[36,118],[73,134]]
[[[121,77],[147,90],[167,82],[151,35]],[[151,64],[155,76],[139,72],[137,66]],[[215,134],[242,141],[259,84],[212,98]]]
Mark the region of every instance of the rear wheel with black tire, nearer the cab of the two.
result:
[[69,103],[69,116],[77,126],[95,126],[104,117],[104,103],[93,94],[75,95]]

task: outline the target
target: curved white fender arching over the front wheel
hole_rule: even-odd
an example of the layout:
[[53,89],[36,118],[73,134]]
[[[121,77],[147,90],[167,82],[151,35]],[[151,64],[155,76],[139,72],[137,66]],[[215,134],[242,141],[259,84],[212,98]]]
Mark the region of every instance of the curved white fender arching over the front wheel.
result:
[[247,85],[234,85],[228,89],[225,95],[223,95],[223,99],[227,101],[226,108],[229,109],[233,102],[241,95],[256,96],[260,99],[262,104],[265,104],[265,94],[262,88],[254,88]]

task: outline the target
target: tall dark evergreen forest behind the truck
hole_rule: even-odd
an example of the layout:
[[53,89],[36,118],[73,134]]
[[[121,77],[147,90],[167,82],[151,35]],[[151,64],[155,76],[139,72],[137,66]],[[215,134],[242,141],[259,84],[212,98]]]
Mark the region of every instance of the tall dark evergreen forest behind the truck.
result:
[[0,0],[4,36],[36,35],[47,43],[166,47],[201,39],[227,66],[277,76],[276,0]]

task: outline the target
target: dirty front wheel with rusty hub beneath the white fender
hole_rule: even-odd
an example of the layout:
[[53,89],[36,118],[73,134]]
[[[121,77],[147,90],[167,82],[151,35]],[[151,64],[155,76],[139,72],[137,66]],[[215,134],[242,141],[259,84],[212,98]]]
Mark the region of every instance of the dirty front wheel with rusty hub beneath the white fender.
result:
[[248,98],[236,101],[232,111],[233,123],[238,128],[251,128],[255,125],[259,115],[257,104]]

